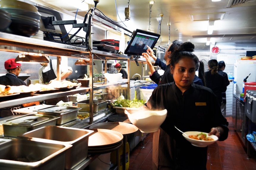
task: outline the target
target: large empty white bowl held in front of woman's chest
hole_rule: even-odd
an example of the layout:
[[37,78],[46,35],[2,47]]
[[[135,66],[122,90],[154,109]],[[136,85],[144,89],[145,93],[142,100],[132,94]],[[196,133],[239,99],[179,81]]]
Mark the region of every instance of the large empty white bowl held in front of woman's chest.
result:
[[150,133],[156,132],[160,125],[165,121],[167,110],[140,110],[136,111],[135,113],[130,113],[129,111],[125,110],[124,113],[128,115],[130,122],[140,129],[140,132]]

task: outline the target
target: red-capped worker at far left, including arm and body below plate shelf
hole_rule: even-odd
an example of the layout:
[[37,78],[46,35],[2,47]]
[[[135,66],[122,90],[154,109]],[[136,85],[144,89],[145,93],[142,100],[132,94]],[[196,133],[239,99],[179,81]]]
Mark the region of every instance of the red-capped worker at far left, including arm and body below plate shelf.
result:
[[[7,70],[7,74],[0,77],[1,85],[10,85],[10,86],[19,86],[26,85],[26,83],[18,78],[21,70],[21,64],[16,63],[15,59],[8,59],[4,62],[4,68]],[[0,109],[0,117],[12,116],[14,115],[13,110],[20,109],[22,107],[28,107],[33,105],[39,105],[39,101],[25,103],[19,106],[14,106],[12,108],[1,108]]]

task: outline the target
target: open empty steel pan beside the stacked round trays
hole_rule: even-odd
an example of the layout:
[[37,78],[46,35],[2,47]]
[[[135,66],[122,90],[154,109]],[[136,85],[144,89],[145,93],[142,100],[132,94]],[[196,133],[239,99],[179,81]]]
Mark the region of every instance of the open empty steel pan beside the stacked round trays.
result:
[[73,169],[88,156],[89,135],[94,132],[88,129],[72,127],[46,126],[19,135],[18,137],[46,140],[48,143],[71,144],[66,152],[65,169]]

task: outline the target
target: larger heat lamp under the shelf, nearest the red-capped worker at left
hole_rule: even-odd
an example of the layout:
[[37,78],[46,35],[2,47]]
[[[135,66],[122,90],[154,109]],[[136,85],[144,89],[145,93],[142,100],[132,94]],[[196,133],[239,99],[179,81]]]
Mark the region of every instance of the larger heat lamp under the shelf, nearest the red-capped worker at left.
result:
[[18,55],[15,59],[16,63],[49,63],[50,59],[47,55],[37,54],[37,53],[23,53]]

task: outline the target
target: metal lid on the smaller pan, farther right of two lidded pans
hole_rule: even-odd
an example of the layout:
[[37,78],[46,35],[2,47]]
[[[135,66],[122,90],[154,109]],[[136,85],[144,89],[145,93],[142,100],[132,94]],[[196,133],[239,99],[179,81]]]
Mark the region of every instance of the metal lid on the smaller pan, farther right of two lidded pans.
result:
[[81,108],[69,107],[69,106],[51,106],[44,109],[34,110],[41,113],[54,113],[54,114],[66,114],[72,111],[80,110]]

